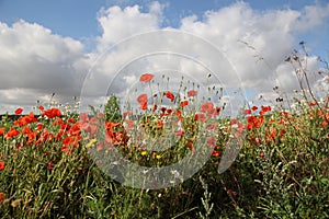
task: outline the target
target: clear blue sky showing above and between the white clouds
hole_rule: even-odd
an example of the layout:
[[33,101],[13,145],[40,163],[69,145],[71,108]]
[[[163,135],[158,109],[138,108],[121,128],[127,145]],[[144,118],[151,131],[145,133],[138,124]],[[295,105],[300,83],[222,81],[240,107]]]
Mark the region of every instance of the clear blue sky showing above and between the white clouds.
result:
[[[109,8],[113,5],[141,5],[141,11],[145,11],[150,0],[0,0],[0,21],[12,24],[19,19],[26,22],[38,23],[48,27],[55,34],[61,36],[70,36],[81,41],[91,38],[101,34],[101,30],[97,20],[97,14],[101,8]],[[191,14],[196,14],[198,19],[203,19],[203,13],[208,10],[218,10],[227,7],[236,1],[232,0],[160,0],[159,2],[168,4],[164,9],[166,22],[162,25],[177,27],[180,25],[180,19]],[[314,4],[313,0],[247,0],[250,7],[254,10],[280,10],[292,9],[300,10],[303,7]],[[326,0],[317,1],[318,4],[325,5]],[[329,19],[324,28],[317,30],[320,33],[300,34],[300,41],[310,42],[314,46],[315,53],[325,56],[328,53],[324,48],[326,39],[329,38]],[[315,39],[317,38],[317,39]]]

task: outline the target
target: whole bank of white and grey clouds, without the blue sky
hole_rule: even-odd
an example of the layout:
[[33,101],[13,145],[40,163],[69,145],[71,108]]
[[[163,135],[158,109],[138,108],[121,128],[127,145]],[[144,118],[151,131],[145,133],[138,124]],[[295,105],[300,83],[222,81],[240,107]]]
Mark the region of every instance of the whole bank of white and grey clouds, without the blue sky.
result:
[[[302,11],[256,11],[237,2],[207,11],[203,18],[183,18],[181,25],[172,28],[161,27],[166,7],[156,1],[148,11],[140,5],[102,9],[98,14],[102,35],[90,54],[83,51],[81,42],[52,34],[38,24],[19,21],[8,26],[0,22],[0,102],[29,105],[53,92],[64,101],[71,100],[80,94],[91,67],[90,77],[95,78],[84,80],[88,92],[82,94],[94,103],[109,93],[128,96],[126,92],[135,88],[146,91],[138,79],[147,71],[157,73],[160,84],[162,73],[171,73],[168,88],[173,89],[182,76],[213,85],[218,82],[214,76],[207,79],[213,70],[222,82],[218,87],[240,87],[252,91],[251,99],[260,94],[273,99],[277,81],[287,92],[296,89],[293,70],[283,61],[298,43],[296,35],[321,26],[329,15],[329,4]],[[317,68],[314,57],[309,67]]]

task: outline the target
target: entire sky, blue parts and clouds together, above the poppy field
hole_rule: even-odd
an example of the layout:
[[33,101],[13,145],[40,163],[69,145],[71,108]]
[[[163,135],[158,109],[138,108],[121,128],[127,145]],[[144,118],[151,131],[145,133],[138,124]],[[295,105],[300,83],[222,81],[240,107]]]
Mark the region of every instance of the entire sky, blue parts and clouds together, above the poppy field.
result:
[[0,0],[0,114],[53,93],[63,104],[111,93],[134,102],[150,89],[138,82],[145,72],[158,91],[179,92],[184,77],[188,89],[224,88],[231,103],[273,101],[273,87],[297,89],[284,59],[299,42],[310,70],[328,60],[328,30],[327,0]]

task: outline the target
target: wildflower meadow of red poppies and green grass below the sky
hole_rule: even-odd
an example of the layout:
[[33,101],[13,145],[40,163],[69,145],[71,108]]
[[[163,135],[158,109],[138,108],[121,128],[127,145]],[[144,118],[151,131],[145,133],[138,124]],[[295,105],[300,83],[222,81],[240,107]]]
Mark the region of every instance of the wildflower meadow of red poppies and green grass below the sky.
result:
[[[143,74],[140,81],[149,83],[152,77]],[[186,92],[188,99],[180,101],[170,91],[163,93],[161,97],[172,101],[170,108],[150,106],[140,95],[145,113],[135,120],[134,112],[117,111],[115,99],[105,112],[93,110],[93,115],[54,105],[38,106],[38,116],[22,108],[12,112],[15,119],[3,115],[0,217],[329,218],[328,96],[320,100],[302,87],[290,111],[259,105],[243,110],[239,119],[219,119],[223,106],[207,101],[186,113],[197,91]],[[151,168],[177,163],[188,154],[203,155],[196,146],[203,127],[216,136],[204,137],[211,157],[184,182],[136,188],[102,171],[102,161],[114,149]],[[140,138],[168,132],[177,141],[167,150],[140,146]],[[219,174],[228,142],[242,132],[237,159]],[[121,174],[127,178],[132,173]]]

